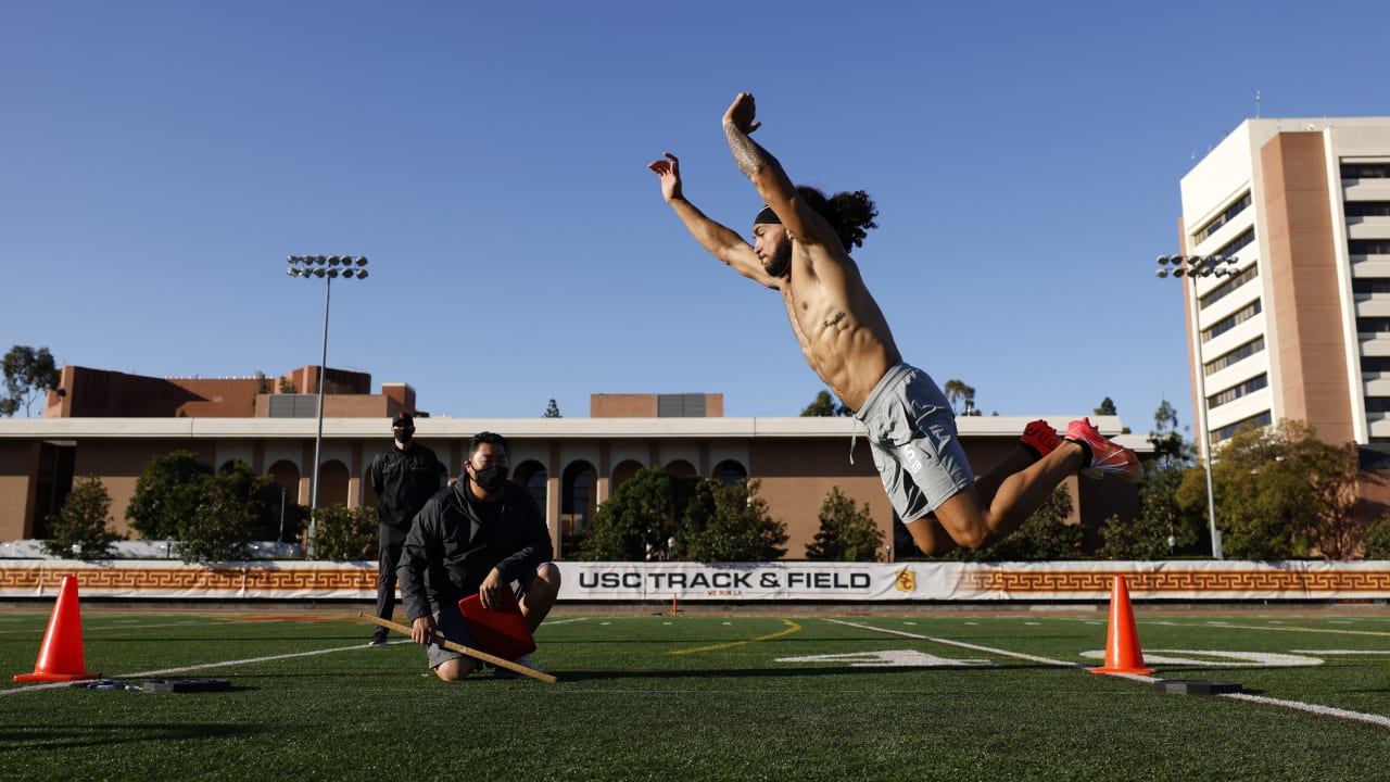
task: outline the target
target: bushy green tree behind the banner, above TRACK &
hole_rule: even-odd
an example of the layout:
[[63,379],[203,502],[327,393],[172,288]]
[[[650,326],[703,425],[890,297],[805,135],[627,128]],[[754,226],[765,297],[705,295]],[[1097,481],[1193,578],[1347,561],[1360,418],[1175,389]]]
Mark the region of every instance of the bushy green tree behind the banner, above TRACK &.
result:
[[759,481],[699,479],[677,532],[677,550],[699,562],[769,562],[787,550],[787,525],[767,515]]

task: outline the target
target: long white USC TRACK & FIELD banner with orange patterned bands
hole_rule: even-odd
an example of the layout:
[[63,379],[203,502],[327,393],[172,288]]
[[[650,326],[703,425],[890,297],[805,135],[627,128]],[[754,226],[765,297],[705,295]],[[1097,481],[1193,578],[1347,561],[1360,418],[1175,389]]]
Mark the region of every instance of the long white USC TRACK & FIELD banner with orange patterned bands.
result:
[[[560,600],[645,601],[1105,601],[1115,576],[1134,600],[1390,600],[1390,562],[571,562]],[[53,597],[74,576],[83,597],[363,600],[375,562],[0,559],[0,598]]]

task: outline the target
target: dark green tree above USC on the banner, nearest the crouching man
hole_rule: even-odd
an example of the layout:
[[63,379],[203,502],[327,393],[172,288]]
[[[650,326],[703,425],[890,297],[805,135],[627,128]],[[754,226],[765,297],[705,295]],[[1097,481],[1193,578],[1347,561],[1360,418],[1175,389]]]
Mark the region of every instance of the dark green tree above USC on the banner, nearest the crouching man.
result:
[[671,557],[667,541],[689,501],[691,483],[659,466],[637,470],[599,505],[578,558],[639,562]]

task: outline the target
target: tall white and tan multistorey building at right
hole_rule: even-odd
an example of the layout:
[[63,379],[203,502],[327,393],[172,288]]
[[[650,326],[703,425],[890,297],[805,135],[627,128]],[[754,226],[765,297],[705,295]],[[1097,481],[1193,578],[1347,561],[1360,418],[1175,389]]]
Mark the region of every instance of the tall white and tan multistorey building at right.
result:
[[1390,117],[1247,120],[1182,199],[1183,253],[1236,257],[1184,281],[1209,441],[1297,419],[1390,452]]

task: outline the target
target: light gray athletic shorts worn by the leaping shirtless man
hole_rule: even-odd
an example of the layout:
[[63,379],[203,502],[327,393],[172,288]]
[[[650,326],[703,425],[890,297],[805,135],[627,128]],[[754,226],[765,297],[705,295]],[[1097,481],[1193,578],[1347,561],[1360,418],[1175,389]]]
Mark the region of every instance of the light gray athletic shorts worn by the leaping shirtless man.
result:
[[905,363],[890,369],[855,417],[869,431],[873,466],[903,523],[974,481],[951,404],[920,369]]

